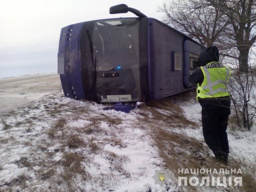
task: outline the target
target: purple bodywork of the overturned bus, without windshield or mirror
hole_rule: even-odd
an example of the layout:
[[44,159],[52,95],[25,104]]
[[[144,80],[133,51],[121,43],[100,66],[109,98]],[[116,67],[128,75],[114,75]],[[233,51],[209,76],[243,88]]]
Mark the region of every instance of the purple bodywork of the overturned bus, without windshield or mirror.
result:
[[[113,20],[118,19],[120,18]],[[147,41],[142,45],[140,44],[140,49],[145,49],[144,53],[141,54],[145,59],[143,61],[140,60],[140,66],[142,66],[142,62],[143,66],[147,65],[146,72],[145,68],[143,72],[140,71],[146,77],[143,79],[142,75],[140,79],[141,89],[145,90],[143,94],[146,95],[146,99],[141,97],[140,101],[147,102],[160,99],[194,88],[195,86],[191,86],[188,82],[188,75],[192,70],[191,59],[197,59],[197,56],[204,47],[156,19],[144,17],[140,22],[144,22],[144,25],[140,24],[140,26],[146,26],[145,30],[143,29],[145,33],[143,38]],[[78,100],[89,99],[85,94],[85,89],[91,89],[91,87],[84,86],[85,82],[82,80],[83,78],[85,79],[84,76],[82,77],[83,65],[88,64],[81,62],[81,51],[83,50],[80,50],[81,33],[85,30],[83,26],[86,23],[88,22],[62,28],[59,38],[58,53],[64,55],[64,74],[60,74],[63,92],[65,97]],[[142,29],[140,29],[140,33],[143,32],[141,31]],[[140,37],[142,37],[141,34]],[[139,43],[141,43],[140,40]],[[89,44],[90,42],[86,43]],[[147,63],[145,63],[145,60]],[[117,108],[119,107],[117,106]]]

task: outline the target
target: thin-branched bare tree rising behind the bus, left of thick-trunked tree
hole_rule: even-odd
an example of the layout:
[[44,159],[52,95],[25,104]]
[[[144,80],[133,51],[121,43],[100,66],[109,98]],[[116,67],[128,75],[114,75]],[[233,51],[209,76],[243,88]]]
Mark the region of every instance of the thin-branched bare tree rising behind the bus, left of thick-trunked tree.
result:
[[167,1],[158,7],[158,11],[164,14],[165,23],[205,46],[218,44],[218,39],[229,24],[218,7],[204,0]]

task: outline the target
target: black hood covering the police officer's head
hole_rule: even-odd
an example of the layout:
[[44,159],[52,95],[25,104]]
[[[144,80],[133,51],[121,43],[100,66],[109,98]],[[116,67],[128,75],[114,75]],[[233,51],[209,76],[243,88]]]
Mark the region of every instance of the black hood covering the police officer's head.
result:
[[216,46],[207,47],[200,52],[199,67],[214,61],[219,61],[219,50]]

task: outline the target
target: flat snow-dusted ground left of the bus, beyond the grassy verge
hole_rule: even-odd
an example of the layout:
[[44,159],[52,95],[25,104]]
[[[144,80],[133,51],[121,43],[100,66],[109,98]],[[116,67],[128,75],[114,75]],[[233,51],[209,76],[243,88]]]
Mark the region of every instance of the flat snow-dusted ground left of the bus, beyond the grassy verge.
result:
[[56,73],[0,78],[0,115],[60,88]]

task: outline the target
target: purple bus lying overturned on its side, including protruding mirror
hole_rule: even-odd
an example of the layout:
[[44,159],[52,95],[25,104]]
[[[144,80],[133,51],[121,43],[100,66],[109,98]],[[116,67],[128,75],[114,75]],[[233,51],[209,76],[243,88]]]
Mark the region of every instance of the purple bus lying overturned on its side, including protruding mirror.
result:
[[61,29],[58,73],[66,97],[147,102],[194,88],[188,75],[204,47],[125,4],[110,8],[111,14],[128,11],[138,17],[86,21]]

